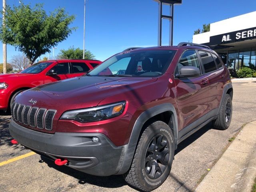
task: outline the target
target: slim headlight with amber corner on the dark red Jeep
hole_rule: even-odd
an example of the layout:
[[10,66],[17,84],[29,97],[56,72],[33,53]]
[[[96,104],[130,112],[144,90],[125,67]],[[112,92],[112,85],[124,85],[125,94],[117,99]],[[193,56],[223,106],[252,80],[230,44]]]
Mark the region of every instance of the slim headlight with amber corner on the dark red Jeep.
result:
[[70,110],[64,112],[60,119],[75,120],[81,123],[110,119],[124,112],[126,102],[118,102],[104,106]]

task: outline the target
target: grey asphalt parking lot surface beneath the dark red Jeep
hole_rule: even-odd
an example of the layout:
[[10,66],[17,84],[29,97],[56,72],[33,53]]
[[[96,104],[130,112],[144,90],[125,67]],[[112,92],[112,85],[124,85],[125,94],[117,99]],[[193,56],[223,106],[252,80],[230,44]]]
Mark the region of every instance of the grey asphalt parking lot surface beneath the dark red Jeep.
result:
[[[207,174],[207,169],[212,168],[228,146],[228,139],[238,133],[244,124],[256,120],[256,86],[236,82],[233,88],[230,128],[214,130],[212,124],[208,124],[184,140],[176,150],[170,176],[157,192],[194,191]],[[65,166],[56,166],[54,162],[38,154],[31,154],[30,150],[20,145],[12,145],[8,131],[9,120],[10,116],[0,114],[1,192],[136,191],[126,184],[122,176],[91,176]],[[14,159],[24,154],[26,158]],[[1,165],[1,162],[7,160],[8,163]]]

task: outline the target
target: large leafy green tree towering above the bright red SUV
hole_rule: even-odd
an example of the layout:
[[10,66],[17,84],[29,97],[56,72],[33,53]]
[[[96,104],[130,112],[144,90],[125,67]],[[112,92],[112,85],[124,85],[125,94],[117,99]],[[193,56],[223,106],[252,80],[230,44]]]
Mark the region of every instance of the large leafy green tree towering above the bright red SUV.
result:
[[6,28],[0,26],[0,40],[23,52],[32,64],[39,56],[50,52],[52,46],[66,40],[75,28],[69,28],[74,15],[64,8],[46,14],[43,4],[6,6]]

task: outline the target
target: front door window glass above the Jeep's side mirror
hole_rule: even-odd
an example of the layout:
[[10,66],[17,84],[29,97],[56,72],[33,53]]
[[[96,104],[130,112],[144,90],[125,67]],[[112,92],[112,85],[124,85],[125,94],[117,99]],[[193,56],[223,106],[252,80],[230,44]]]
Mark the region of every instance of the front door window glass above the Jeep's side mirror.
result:
[[180,72],[180,68],[182,68],[184,66],[193,66],[193,67],[197,67],[200,69],[200,64],[199,64],[198,58],[196,56],[195,50],[188,50],[188,51],[184,52],[184,54],[182,55],[182,58],[180,59],[180,61],[177,64],[176,74],[178,74]]

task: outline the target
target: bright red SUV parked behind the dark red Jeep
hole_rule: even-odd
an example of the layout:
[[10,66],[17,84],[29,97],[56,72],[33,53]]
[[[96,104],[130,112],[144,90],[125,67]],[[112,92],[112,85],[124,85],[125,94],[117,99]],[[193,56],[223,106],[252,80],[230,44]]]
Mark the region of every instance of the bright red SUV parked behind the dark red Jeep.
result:
[[98,60],[49,60],[17,74],[0,75],[0,110],[7,110],[20,92],[46,83],[77,77],[96,67]]

